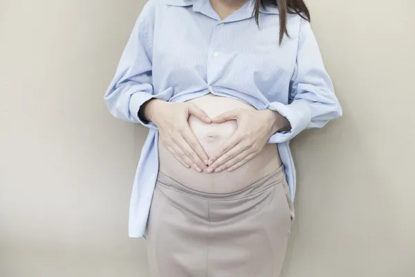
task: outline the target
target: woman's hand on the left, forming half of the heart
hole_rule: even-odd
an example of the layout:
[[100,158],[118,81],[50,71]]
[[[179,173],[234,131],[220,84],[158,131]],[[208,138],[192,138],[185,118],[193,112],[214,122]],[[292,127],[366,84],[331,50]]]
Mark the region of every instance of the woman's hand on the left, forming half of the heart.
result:
[[207,168],[209,157],[190,129],[188,119],[195,116],[203,123],[212,120],[205,112],[189,102],[165,102],[152,99],[145,104],[143,116],[158,127],[160,143],[185,168],[202,172]]

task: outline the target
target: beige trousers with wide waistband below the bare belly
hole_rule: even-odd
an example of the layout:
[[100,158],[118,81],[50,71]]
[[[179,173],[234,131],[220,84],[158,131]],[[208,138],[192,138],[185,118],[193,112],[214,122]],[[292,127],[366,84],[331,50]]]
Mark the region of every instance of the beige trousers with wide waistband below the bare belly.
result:
[[159,172],[147,224],[155,277],[277,277],[294,217],[284,168],[229,194]]

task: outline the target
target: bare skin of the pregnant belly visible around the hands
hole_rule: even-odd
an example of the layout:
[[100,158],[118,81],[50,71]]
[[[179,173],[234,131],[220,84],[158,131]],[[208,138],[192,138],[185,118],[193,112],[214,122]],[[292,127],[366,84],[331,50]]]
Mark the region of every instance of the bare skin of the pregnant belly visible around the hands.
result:
[[[255,109],[246,102],[214,96],[211,93],[189,102],[203,109],[210,118],[231,109]],[[191,116],[189,125],[209,157],[219,150],[237,130],[236,120],[221,124],[205,124],[198,118]],[[203,193],[233,193],[255,183],[282,164],[275,143],[267,143],[256,157],[232,172],[228,170],[219,173],[196,172],[192,168],[187,169],[182,166],[160,143],[158,143],[158,152],[160,172],[183,186]]]

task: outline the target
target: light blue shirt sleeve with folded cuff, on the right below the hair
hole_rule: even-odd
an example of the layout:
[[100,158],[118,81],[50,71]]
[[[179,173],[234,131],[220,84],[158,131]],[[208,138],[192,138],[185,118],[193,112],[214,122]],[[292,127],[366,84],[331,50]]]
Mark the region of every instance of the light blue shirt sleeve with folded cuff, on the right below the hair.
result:
[[289,141],[304,129],[323,127],[329,120],[342,116],[313,30],[304,19],[299,29],[297,62],[290,82],[288,105],[270,102],[267,108],[279,112],[291,123],[291,130],[273,134],[268,143]]

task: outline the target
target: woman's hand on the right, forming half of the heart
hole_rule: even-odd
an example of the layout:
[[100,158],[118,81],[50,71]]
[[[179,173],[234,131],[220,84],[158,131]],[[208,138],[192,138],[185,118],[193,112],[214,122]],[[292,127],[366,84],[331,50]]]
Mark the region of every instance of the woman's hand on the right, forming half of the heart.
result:
[[269,109],[232,109],[216,118],[212,123],[237,120],[237,131],[208,161],[209,173],[235,170],[255,157],[268,143],[270,136],[291,125],[284,116]]

